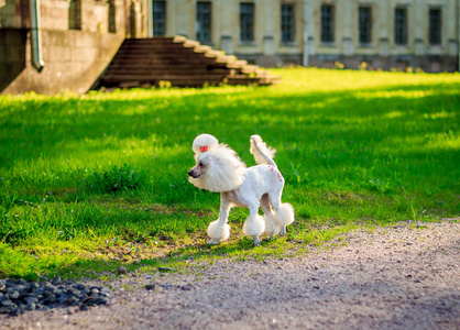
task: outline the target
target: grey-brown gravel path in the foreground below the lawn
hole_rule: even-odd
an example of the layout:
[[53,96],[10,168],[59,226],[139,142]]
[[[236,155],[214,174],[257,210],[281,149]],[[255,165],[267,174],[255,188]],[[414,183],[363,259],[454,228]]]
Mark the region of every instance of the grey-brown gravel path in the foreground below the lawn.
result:
[[459,220],[355,231],[296,258],[190,261],[186,275],[111,283],[109,307],[0,316],[0,328],[460,329]]

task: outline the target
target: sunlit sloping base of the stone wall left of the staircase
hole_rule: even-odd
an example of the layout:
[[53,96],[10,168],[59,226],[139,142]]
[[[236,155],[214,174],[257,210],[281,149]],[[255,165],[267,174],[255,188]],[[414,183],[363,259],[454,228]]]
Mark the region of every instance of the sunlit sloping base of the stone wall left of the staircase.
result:
[[[9,34],[8,31],[6,34]],[[86,92],[110,63],[122,41],[123,37],[117,34],[42,31],[45,66],[39,74],[31,65],[30,41],[26,35],[25,46],[20,50],[25,55],[22,70],[15,70],[13,79],[9,76],[10,84],[0,88],[1,94],[32,90],[39,94],[56,94],[64,90]]]

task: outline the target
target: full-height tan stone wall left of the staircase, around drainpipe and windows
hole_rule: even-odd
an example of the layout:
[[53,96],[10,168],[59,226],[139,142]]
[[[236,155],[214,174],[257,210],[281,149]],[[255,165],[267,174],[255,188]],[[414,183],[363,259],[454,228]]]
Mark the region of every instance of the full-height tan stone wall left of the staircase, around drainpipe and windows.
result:
[[0,92],[86,92],[124,40],[125,2],[114,1],[116,25],[114,31],[109,32],[109,2],[81,0],[81,26],[72,30],[70,2],[42,0],[41,40],[45,66],[41,73],[31,65],[29,7],[24,3],[25,0],[3,0],[3,6],[0,4]]

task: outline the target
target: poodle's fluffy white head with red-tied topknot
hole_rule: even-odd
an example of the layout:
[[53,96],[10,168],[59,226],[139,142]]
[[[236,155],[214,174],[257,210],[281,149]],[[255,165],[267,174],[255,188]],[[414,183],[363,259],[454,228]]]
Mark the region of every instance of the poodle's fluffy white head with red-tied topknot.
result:
[[193,143],[196,166],[188,180],[200,189],[220,193],[239,187],[244,180],[245,165],[237,153],[209,134],[197,136]]

